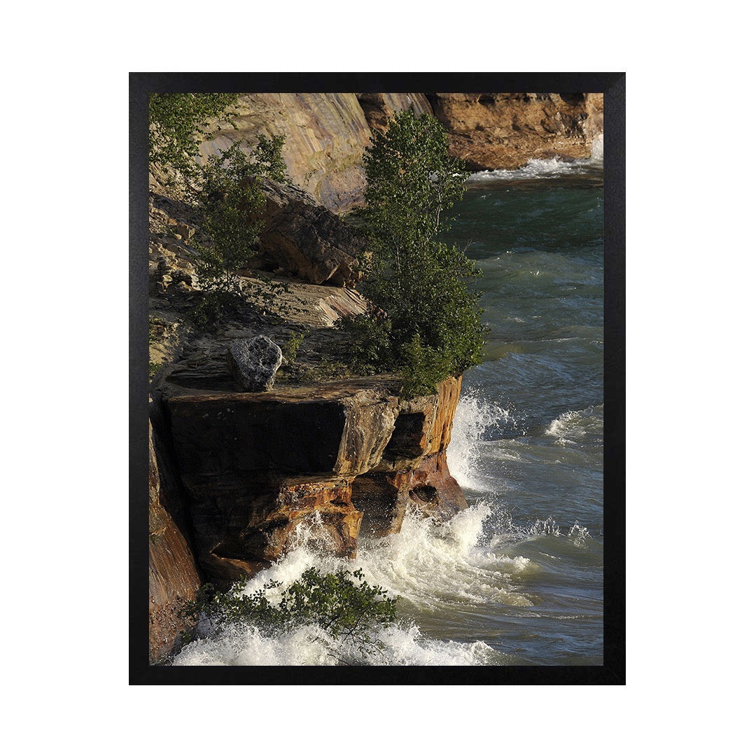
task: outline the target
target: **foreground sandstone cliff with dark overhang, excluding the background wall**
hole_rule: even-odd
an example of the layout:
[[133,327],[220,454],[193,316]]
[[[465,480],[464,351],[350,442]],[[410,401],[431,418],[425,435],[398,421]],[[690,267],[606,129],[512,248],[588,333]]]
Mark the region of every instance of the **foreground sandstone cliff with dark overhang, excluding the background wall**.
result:
[[[298,544],[355,556],[358,537],[398,531],[407,509],[446,519],[466,507],[445,450],[460,379],[407,401],[395,376],[345,378],[347,336],[365,311],[346,249],[354,232],[304,192],[266,187],[263,268],[240,271],[243,301],[202,327],[191,208],[150,198],[150,660],[181,631],[200,583],[252,575]],[[288,274],[295,274],[292,277]],[[304,283],[319,280],[322,283]],[[264,335],[303,336],[272,391],[239,392],[226,355]]]

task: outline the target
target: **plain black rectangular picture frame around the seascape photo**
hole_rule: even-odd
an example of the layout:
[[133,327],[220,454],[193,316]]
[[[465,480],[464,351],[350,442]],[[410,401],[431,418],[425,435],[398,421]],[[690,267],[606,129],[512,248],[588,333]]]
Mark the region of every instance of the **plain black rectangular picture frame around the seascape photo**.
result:
[[[604,95],[604,664],[165,667],[148,662],[147,102],[150,91],[590,91]],[[625,682],[625,74],[129,74],[129,682],[132,685],[575,685]]]

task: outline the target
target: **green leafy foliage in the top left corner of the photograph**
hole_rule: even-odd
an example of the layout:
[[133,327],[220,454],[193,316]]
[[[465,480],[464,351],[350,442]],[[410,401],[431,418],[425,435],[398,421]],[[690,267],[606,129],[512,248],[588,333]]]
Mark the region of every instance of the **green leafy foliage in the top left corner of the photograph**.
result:
[[238,99],[235,94],[206,92],[150,95],[150,163],[163,169],[166,183],[181,190],[197,185],[201,178],[196,160],[200,144],[212,135],[213,121],[232,116]]

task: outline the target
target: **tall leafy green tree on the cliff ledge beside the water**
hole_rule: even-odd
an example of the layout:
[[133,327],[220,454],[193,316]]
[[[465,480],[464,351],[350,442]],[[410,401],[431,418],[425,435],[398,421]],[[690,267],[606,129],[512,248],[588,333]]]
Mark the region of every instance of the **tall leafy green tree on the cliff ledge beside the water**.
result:
[[469,174],[449,156],[442,125],[410,111],[395,113],[386,132],[373,136],[363,163],[370,236],[363,288],[373,307],[342,327],[352,335],[357,367],[398,370],[405,395],[429,393],[482,359],[485,328],[470,287],[479,271],[438,240]]

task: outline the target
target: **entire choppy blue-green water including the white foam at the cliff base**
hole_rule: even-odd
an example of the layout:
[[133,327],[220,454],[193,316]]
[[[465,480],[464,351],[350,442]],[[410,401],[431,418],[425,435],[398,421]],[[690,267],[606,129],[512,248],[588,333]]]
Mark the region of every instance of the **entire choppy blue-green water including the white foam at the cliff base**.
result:
[[[361,568],[403,597],[386,665],[603,663],[603,185],[597,160],[476,175],[448,241],[482,269],[491,332],[465,374],[449,464],[471,504],[408,516],[345,562],[305,547],[253,578]],[[234,628],[180,665],[333,665],[317,628]],[[339,649],[349,655],[349,649]]]

